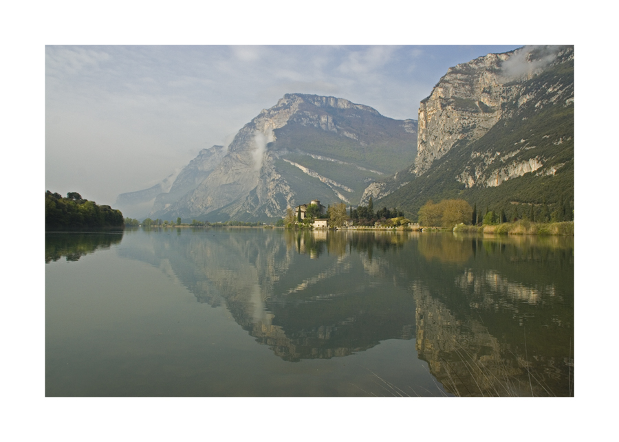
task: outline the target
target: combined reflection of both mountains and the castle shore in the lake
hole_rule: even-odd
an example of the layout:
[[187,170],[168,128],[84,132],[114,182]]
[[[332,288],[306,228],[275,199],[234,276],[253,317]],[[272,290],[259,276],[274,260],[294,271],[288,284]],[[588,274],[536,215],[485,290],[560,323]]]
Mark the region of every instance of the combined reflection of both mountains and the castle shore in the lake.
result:
[[225,305],[283,360],[415,338],[454,395],[572,395],[573,239],[169,230],[119,254]]

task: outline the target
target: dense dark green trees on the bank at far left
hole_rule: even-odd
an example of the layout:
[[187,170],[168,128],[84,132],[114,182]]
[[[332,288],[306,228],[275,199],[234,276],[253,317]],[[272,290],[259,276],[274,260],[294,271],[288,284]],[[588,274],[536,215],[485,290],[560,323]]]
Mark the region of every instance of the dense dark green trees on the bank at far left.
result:
[[98,206],[78,192],[69,192],[67,197],[45,192],[45,230],[85,227],[124,227],[124,218],[120,210]]

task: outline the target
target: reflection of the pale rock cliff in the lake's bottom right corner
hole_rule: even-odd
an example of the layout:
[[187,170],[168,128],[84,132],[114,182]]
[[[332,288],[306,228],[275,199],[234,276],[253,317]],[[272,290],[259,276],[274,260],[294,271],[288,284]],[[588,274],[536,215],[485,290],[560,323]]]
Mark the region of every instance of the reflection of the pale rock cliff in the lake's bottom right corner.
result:
[[[568,343],[563,355],[538,353],[525,327],[496,334],[484,320],[455,318],[442,302],[415,289],[417,351],[443,386],[459,396],[567,396],[573,389]],[[514,324],[517,325],[517,324]],[[517,334],[515,334],[517,333]]]

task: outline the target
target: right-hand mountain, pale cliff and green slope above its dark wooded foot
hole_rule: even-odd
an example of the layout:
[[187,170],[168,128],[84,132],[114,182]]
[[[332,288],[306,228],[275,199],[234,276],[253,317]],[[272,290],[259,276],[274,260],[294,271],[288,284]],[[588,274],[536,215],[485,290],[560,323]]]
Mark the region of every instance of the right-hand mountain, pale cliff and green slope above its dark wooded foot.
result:
[[422,204],[573,168],[573,113],[574,47],[523,47],[452,67],[420,104],[415,162],[370,184],[362,202],[393,194],[383,203]]

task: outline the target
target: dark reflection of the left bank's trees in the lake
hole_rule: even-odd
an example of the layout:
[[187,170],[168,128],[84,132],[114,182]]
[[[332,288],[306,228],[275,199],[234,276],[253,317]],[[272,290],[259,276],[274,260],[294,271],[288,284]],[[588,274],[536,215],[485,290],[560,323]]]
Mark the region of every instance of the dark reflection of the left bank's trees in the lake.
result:
[[106,249],[120,243],[122,233],[122,230],[45,233],[45,263],[58,261],[63,256],[67,261],[78,261],[81,256],[97,249]]

